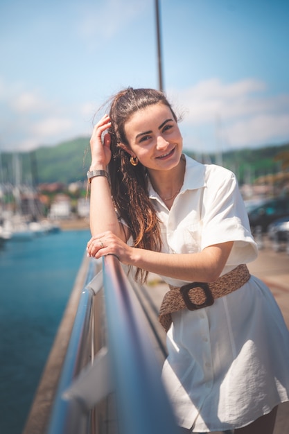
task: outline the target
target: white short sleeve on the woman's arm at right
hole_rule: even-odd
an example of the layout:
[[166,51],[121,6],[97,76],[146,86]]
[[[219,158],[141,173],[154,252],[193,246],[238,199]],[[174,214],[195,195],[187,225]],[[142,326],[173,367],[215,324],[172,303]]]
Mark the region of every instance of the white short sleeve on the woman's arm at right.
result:
[[215,165],[207,166],[205,176],[201,248],[234,241],[227,265],[253,261],[257,256],[257,247],[236,176]]

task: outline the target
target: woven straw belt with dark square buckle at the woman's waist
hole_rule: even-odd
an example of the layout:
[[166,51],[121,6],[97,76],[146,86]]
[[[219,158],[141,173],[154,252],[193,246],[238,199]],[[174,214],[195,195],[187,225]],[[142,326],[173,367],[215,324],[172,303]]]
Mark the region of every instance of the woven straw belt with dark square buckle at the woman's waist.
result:
[[250,274],[247,266],[241,264],[210,284],[193,282],[180,288],[170,286],[170,290],[164,295],[161,302],[159,322],[168,331],[172,322],[171,313],[185,308],[195,311],[196,309],[211,306],[216,298],[237,290],[245,285],[249,278]]

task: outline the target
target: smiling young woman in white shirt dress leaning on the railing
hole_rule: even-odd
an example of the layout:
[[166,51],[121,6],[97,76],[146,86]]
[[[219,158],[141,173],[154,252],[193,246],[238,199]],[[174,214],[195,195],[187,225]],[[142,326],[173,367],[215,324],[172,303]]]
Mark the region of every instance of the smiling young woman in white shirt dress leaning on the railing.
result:
[[256,243],[236,177],[182,153],[177,117],[154,89],[116,94],[90,144],[87,251],[116,254],[137,279],[154,272],[170,286],[162,376],[179,426],[271,434],[288,401],[289,333],[245,266]]

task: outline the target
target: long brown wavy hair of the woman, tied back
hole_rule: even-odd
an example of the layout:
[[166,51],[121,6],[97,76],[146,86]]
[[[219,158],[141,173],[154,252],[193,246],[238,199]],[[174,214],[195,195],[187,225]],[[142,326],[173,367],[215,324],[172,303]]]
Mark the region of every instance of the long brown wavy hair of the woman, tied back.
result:
[[[170,108],[175,121],[177,117],[163,92],[155,89],[121,90],[110,98],[110,128],[112,159],[110,172],[112,198],[119,217],[128,225],[134,248],[159,251],[161,234],[159,220],[148,198],[148,174],[140,162],[130,163],[130,155],[119,144],[129,147],[125,137],[125,123],[130,117],[149,105],[164,104]],[[148,272],[137,268],[136,279],[146,281]]]

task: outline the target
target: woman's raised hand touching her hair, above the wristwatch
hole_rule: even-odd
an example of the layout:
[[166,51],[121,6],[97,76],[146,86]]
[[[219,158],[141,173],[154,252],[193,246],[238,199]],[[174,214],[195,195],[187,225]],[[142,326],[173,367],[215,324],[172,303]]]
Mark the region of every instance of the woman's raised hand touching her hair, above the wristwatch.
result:
[[110,116],[105,114],[98,123],[94,126],[91,134],[90,149],[91,149],[91,170],[98,168],[106,168],[112,158],[112,151],[110,150],[110,133],[106,133],[101,140],[101,135],[107,128],[110,128]]

